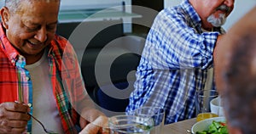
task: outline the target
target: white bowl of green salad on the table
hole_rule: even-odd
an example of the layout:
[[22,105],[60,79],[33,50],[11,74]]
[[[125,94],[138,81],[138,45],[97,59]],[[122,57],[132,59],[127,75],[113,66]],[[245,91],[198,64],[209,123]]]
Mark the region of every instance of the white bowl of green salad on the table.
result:
[[214,117],[196,122],[191,128],[193,134],[228,134],[228,129],[224,117]]

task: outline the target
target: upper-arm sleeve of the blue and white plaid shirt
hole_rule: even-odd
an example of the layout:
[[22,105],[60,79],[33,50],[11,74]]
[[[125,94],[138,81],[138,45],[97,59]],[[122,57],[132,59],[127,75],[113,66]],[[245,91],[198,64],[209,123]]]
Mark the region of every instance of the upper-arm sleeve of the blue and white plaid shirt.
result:
[[212,53],[219,32],[200,33],[196,25],[190,26],[182,15],[165,12],[159,14],[156,20],[148,33],[148,51],[144,53],[154,61],[153,68],[206,69],[212,65]]

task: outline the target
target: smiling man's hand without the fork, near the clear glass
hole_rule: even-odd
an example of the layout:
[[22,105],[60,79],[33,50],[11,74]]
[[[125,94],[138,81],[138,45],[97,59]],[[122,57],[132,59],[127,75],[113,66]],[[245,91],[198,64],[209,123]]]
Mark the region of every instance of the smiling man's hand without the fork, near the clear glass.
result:
[[83,109],[80,126],[84,129],[79,134],[108,133],[108,117],[96,109]]

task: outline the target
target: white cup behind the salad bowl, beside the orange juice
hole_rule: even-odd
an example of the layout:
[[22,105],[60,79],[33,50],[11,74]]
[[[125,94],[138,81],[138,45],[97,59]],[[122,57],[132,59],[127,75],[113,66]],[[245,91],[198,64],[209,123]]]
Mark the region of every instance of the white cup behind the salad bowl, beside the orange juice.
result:
[[210,109],[212,114],[217,114],[218,116],[224,116],[224,108],[222,106],[221,99],[213,98],[210,102]]

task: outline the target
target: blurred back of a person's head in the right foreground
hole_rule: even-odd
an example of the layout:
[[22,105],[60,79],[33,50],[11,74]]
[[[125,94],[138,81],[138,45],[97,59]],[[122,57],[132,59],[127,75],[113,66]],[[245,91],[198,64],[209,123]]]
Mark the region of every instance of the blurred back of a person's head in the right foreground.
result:
[[220,42],[214,59],[230,133],[256,133],[256,7]]

